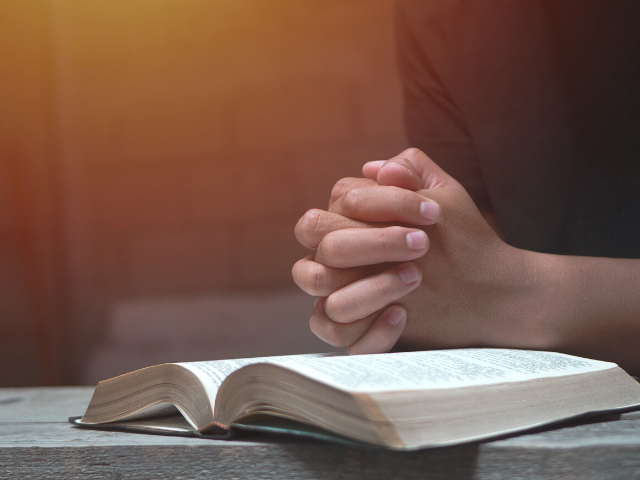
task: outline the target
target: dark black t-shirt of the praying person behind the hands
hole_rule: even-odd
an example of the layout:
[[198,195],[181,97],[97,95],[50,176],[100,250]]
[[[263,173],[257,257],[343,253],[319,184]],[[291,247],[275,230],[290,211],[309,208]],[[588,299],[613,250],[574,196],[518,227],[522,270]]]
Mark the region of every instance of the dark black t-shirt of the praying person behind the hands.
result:
[[640,1],[400,0],[405,121],[508,243],[640,258]]

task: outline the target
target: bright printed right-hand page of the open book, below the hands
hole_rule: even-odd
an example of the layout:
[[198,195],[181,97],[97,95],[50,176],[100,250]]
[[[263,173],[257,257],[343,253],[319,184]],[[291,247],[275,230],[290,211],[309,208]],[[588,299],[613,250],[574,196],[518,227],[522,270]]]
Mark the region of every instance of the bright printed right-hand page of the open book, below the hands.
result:
[[492,348],[324,358],[293,356],[278,363],[353,392],[459,388],[616,367],[613,363],[561,353]]

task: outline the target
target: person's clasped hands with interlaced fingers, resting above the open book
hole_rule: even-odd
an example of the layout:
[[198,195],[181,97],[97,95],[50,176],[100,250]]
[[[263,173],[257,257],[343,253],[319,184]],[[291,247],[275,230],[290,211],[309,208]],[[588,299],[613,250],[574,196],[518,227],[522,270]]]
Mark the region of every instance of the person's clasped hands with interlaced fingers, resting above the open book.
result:
[[318,297],[315,335],[349,354],[549,342],[531,315],[530,252],[504,243],[455,179],[417,149],[363,173],[295,228],[314,250],[293,278]]

